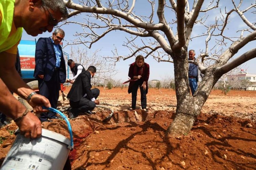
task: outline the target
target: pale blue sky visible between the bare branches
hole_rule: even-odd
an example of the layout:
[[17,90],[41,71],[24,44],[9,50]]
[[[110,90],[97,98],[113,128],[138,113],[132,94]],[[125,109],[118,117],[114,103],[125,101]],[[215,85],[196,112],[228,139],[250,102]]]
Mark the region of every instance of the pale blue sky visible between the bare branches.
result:
[[[74,0],[73,2],[77,3],[77,0]],[[104,5],[105,1],[102,0],[101,2]],[[238,0],[235,0],[235,2],[238,3]],[[191,8],[192,4],[190,4],[190,3],[191,3],[191,1],[189,1],[189,5]],[[209,3],[209,2],[205,1],[203,3],[203,7],[202,7],[203,9],[207,8],[207,6],[208,6],[207,3]],[[229,11],[230,9],[233,8],[231,0],[220,1],[219,3],[220,3],[219,6],[222,7],[223,12],[225,12],[224,6],[227,7],[226,11]],[[255,4],[255,3],[256,3],[255,0],[243,1],[243,4],[241,5],[240,9],[244,10],[250,4]],[[168,1],[167,1],[167,4],[168,4]],[[136,15],[148,15],[149,14],[148,11],[150,11],[150,9],[151,9],[151,7],[149,6],[147,0],[137,0],[133,11]],[[156,16],[156,10],[157,10],[157,1],[156,1],[156,5],[155,5],[155,13],[154,13],[155,16],[153,18],[155,23],[158,22],[158,18]],[[255,14],[251,13],[252,11],[253,10],[251,10],[250,12],[247,12],[245,14],[245,16],[250,20],[250,22],[255,22],[256,17],[255,17]],[[204,13],[200,14],[199,17],[202,17],[203,15],[204,15]],[[212,23],[213,21],[215,21],[215,18],[219,17],[220,15],[221,14],[220,14],[219,10],[211,11],[209,13],[209,16],[208,16],[205,24]],[[169,17],[167,18],[167,16],[169,16]],[[68,19],[68,21],[83,22],[84,21],[83,17],[87,17],[86,13],[82,13],[79,16],[71,17]],[[165,17],[169,21],[171,21],[172,19],[175,19],[175,16],[171,13],[170,8],[165,8]],[[239,33],[237,33],[236,30],[238,30],[238,29],[242,30],[244,28],[247,28],[247,26],[242,22],[241,18],[237,15],[237,13],[233,12],[230,19],[231,20],[227,26],[228,30],[225,30],[225,35],[228,35],[228,36],[239,35]],[[90,21],[92,21],[92,20],[90,20]],[[174,25],[172,27],[173,27],[173,32],[175,34],[176,26]],[[65,40],[63,41],[63,46],[65,46],[67,44],[67,41],[69,41],[71,43],[72,40],[74,40],[76,38],[74,36],[74,34],[76,32],[82,31],[81,26],[79,26],[77,24],[62,25],[60,28],[65,31],[65,38],[64,38]],[[194,26],[193,33],[192,33],[191,37],[201,35],[204,32],[205,32],[204,27],[202,27],[201,25],[198,25],[198,26],[196,25],[196,26]],[[38,40],[38,38],[40,38],[40,37],[49,37],[51,35],[52,35],[52,33],[46,32],[46,33],[40,34],[36,37],[32,37],[24,31],[23,35],[22,35],[22,39],[23,40],[34,40],[34,39]],[[91,49],[87,49],[87,51],[89,54],[90,53],[93,54],[96,50],[100,49],[98,54],[100,56],[106,57],[106,56],[112,56],[113,55],[112,50],[114,50],[116,47],[118,49],[119,55],[129,55],[130,51],[126,47],[122,46],[124,44],[124,41],[126,41],[125,37],[130,37],[130,35],[123,31],[118,31],[118,30],[112,31],[111,33],[107,34],[102,39],[97,41],[95,44],[93,44]],[[142,38],[142,39],[145,40],[144,38]],[[210,47],[213,46],[215,43],[214,37],[212,39],[213,40],[211,41]],[[198,55],[200,53],[200,51],[204,51],[204,49],[205,49],[204,41],[205,41],[205,37],[195,38],[189,43],[188,49],[194,49],[196,51],[196,55]],[[137,43],[139,46],[140,45],[142,46],[141,41],[137,41]],[[80,45],[79,47],[87,48],[82,45]],[[229,47],[229,46],[227,46],[227,47]],[[77,48],[77,45],[73,46],[73,48]],[[254,44],[249,43],[242,50],[240,50],[235,55],[235,57],[239,56],[239,55],[243,54],[244,52],[246,52],[250,49],[253,49],[253,48],[255,48],[255,43]],[[63,48],[63,51],[70,53],[70,49],[71,49],[71,46],[66,46],[65,48]],[[117,70],[117,74],[114,75],[113,79],[122,80],[122,81],[128,80],[129,64],[133,63],[134,61],[135,61],[135,58],[133,57],[133,58],[129,58],[125,61],[121,60],[121,61],[117,62],[116,66],[115,66],[115,69]],[[161,80],[166,77],[174,77],[174,68],[173,68],[172,63],[169,63],[169,62],[158,63],[152,57],[146,58],[145,62],[150,64],[150,79],[149,80]],[[254,58],[253,60],[246,62],[242,66],[242,68],[244,70],[247,70],[249,73],[256,74],[255,62],[256,62],[256,59]]]

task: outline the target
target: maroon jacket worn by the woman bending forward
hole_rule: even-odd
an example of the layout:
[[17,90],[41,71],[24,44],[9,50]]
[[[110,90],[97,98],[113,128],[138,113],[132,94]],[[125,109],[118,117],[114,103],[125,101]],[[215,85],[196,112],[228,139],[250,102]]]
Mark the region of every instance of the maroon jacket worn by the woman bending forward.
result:
[[147,86],[146,93],[147,93],[147,89],[148,89],[147,81],[149,78],[149,73],[150,73],[150,70],[149,70],[149,65],[147,63],[144,63],[144,65],[142,67],[138,67],[135,62],[132,63],[129,68],[128,76],[131,79],[133,79],[134,75],[136,75],[136,76],[141,75],[141,78],[138,79],[137,81],[130,81],[129,87],[128,87],[128,93],[129,94],[131,93],[132,86],[136,82],[139,82],[139,85],[141,86],[144,81],[146,82],[146,86]]

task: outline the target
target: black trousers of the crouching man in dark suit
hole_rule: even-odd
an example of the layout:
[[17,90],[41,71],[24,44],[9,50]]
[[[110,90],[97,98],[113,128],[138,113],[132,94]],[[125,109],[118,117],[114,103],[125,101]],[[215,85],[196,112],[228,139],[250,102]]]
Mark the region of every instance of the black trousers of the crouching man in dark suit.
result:
[[[100,90],[97,88],[91,89],[91,92],[93,93],[95,99],[97,99],[100,95]],[[75,116],[79,112],[91,111],[96,107],[96,104],[93,101],[91,101],[91,99],[89,99],[88,96],[82,97],[78,102],[73,102],[70,100],[69,104],[72,107],[72,114],[74,114]]]

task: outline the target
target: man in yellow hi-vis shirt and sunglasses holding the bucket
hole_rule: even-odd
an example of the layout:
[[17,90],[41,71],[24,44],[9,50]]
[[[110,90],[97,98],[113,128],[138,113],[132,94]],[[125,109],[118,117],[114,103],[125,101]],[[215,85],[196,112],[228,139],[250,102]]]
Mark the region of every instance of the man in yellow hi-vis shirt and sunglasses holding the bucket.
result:
[[29,112],[9,90],[26,99],[34,112],[46,111],[48,99],[36,94],[15,69],[17,46],[22,28],[32,36],[51,32],[61,19],[67,18],[63,0],[0,1],[0,111],[10,116],[27,138],[41,136],[41,122]]

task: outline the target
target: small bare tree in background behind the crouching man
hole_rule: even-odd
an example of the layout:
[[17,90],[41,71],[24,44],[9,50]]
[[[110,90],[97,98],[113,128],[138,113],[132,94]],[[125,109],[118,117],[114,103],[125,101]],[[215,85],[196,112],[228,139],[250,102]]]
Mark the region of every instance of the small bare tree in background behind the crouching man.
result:
[[[105,79],[111,78],[117,73],[115,66],[111,62],[106,61],[104,58],[98,55],[99,50],[89,54],[86,49],[76,48],[75,50],[71,48],[70,59],[75,63],[79,63],[87,69],[89,66],[95,66],[97,69],[94,79],[91,80],[92,85],[98,85],[102,83]],[[70,68],[68,68],[70,69]],[[69,72],[71,75],[71,71]]]

